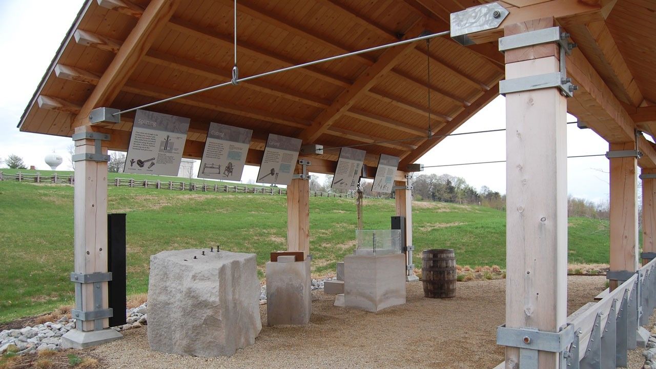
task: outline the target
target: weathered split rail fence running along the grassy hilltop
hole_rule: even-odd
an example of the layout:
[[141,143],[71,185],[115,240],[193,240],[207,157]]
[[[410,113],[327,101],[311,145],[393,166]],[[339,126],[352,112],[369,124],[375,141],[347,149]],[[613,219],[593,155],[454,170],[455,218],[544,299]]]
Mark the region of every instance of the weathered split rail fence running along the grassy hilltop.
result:
[[[31,182],[31,183],[60,183],[66,185],[73,185],[75,177],[72,175],[48,175],[42,176],[39,174],[7,174],[0,171],[0,181],[18,181],[18,182]],[[185,183],[182,181],[149,181],[148,179],[131,179],[131,178],[115,178],[113,181],[108,181],[108,186],[113,187],[134,187],[134,188],[154,188],[157,190],[179,190],[179,191],[202,191],[202,192],[241,192],[245,194],[265,194],[265,195],[285,195],[287,196],[287,189],[279,187],[255,187],[244,185],[212,185],[207,183]],[[334,192],[321,192],[310,191],[310,197],[327,197],[327,198],[354,198],[352,194],[337,194]],[[365,198],[374,198],[373,196],[365,196]]]

